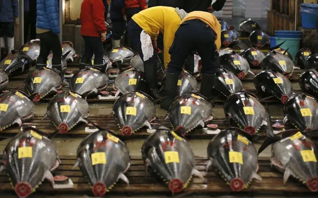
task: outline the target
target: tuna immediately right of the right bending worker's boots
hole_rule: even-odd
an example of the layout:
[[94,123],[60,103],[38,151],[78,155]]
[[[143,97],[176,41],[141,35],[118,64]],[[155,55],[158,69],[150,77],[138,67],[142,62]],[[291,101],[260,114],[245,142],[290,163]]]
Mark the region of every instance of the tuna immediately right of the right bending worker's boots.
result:
[[234,73],[224,68],[218,68],[216,70],[213,88],[222,93],[225,97],[244,90],[241,80]]

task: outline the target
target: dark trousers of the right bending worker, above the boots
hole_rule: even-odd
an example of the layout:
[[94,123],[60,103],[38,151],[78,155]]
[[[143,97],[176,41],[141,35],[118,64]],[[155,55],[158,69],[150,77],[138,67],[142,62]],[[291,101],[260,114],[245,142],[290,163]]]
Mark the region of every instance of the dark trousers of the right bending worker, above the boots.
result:
[[202,59],[202,73],[213,75],[218,68],[218,52],[215,33],[205,22],[194,19],[183,22],[175,34],[169,50],[171,61],[167,72],[179,74],[192,50],[197,50]]

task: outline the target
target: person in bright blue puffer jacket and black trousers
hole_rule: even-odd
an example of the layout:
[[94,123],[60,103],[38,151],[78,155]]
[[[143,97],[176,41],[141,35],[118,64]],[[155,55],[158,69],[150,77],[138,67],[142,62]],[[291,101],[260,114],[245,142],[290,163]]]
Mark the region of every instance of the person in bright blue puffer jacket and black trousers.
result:
[[58,0],[37,0],[36,33],[40,38],[40,55],[36,68],[46,66],[50,51],[53,52],[52,67],[63,79],[61,56],[62,48],[59,38],[59,4]]

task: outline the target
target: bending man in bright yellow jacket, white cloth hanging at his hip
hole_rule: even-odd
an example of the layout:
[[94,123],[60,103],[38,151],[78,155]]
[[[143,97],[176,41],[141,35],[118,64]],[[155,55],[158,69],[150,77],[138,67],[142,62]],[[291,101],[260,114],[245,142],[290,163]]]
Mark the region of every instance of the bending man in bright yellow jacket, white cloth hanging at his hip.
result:
[[133,43],[133,50],[137,51],[143,60],[150,94],[155,98],[162,97],[157,83],[157,36],[159,32],[163,34],[164,65],[167,67],[170,62],[169,48],[186,14],[179,8],[155,6],[133,15],[128,23],[128,36]]

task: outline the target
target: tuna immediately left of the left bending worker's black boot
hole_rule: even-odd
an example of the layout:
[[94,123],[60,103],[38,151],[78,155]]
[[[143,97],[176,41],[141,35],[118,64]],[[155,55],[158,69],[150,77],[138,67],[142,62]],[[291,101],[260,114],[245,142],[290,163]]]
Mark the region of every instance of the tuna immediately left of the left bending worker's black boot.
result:
[[143,72],[136,68],[125,70],[116,77],[114,89],[117,89],[115,96],[118,96],[119,93],[126,94],[131,91],[146,92],[146,76]]

